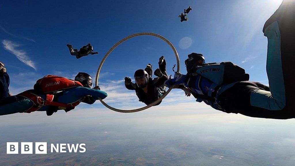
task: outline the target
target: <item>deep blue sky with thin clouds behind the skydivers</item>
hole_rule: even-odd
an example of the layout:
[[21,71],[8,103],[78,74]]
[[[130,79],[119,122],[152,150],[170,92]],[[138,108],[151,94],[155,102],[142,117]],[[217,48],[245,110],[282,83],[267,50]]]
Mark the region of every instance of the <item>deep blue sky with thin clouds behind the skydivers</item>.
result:
[[[192,52],[202,53],[206,62],[232,61],[250,74],[250,80],[268,84],[266,75],[267,38],[264,22],[275,12],[281,0],[225,1],[2,1],[0,21],[0,61],[11,77],[10,92],[16,95],[31,89],[46,74],[73,79],[79,72],[93,79],[101,59],[119,40],[138,32],[154,32],[170,40],[178,51],[181,72],[184,60]],[[187,22],[178,15],[188,6]],[[97,55],[76,59],[66,44],[80,48],[87,43]],[[106,102],[119,108],[144,106],[134,91],[124,88],[125,76],[153,64],[165,56],[168,74],[176,64],[171,48],[152,36],[132,38],[119,45],[101,70]],[[150,109],[187,108],[211,110],[203,103],[173,90],[161,104]],[[79,108],[104,108],[99,102]],[[171,108],[172,109],[172,108]],[[199,109],[198,109],[199,110]]]

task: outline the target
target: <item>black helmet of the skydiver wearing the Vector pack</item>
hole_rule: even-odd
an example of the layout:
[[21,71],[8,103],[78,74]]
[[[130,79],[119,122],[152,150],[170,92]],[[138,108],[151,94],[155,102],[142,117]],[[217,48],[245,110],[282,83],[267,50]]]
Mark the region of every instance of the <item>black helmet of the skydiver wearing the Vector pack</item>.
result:
[[[189,58],[187,58],[184,63],[186,65],[186,71],[188,73],[194,72],[194,69],[196,66],[201,66],[205,63],[205,58],[200,53],[191,53],[188,55]],[[201,62],[199,62],[201,60]]]

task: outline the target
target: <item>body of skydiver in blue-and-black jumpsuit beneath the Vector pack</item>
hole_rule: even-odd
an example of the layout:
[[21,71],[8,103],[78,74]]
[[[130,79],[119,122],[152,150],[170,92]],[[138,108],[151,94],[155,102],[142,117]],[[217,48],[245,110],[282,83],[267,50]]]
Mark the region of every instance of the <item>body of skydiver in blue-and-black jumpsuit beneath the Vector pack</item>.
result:
[[194,73],[196,58],[190,56],[190,61],[186,60],[188,73],[176,73],[165,85],[176,85],[174,88],[186,86],[196,96],[203,98],[196,101],[204,101],[226,113],[240,113],[258,118],[295,118],[294,29],[295,1],[284,0],[263,27],[264,35],[268,38],[266,71],[269,87],[258,82],[241,81],[222,85],[218,89],[210,88],[212,81]]

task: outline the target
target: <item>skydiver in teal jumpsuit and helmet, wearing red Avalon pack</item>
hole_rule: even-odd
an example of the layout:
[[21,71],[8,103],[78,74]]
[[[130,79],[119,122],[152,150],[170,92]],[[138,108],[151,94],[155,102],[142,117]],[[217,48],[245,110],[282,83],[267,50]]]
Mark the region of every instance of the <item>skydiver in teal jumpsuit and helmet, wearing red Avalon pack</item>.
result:
[[[73,105],[73,107],[69,108],[60,108],[58,106],[51,105],[39,105],[40,108],[37,111],[46,111],[47,115],[52,115],[57,110],[64,109],[65,112],[72,110],[76,105],[80,102],[85,102],[87,104],[93,104],[98,97],[104,99],[107,97],[106,92],[101,91],[99,86],[92,88],[92,79],[89,74],[79,72],[75,77],[75,81],[80,82],[83,87],[72,87],[69,89],[65,89],[62,92],[54,93],[54,102]],[[29,90],[28,92],[32,92],[43,100],[46,100],[46,94],[40,91],[36,91],[35,89]],[[13,113],[23,113],[28,112],[32,107],[36,107],[37,104],[32,102],[23,96],[14,95],[11,97],[6,97],[0,100],[0,115],[8,115]]]

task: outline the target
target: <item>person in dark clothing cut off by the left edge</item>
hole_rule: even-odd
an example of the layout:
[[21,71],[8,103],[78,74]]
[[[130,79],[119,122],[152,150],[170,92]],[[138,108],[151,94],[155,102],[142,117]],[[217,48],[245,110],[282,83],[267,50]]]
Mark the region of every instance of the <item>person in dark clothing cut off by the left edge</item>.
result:
[[6,72],[6,68],[4,68],[4,64],[0,62],[0,100],[9,97],[9,83],[9,75]]

